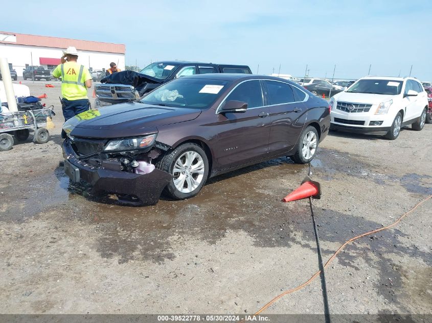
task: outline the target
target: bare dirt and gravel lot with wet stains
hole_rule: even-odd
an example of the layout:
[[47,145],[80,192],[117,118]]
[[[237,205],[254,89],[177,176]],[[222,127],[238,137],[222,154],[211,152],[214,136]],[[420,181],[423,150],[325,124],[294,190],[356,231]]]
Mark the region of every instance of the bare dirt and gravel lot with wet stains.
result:
[[[308,202],[281,198],[307,166],[280,158],[211,179],[187,201],[127,207],[71,185],[60,84],[52,139],[0,153],[1,313],[254,313],[318,268]],[[93,90],[89,90],[89,97]],[[313,162],[325,260],[432,194],[432,125],[395,141],[334,132]],[[349,245],[326,270],[331,313],[432,314],[432,200]],[[264,313],[323,313],[320,279]]]

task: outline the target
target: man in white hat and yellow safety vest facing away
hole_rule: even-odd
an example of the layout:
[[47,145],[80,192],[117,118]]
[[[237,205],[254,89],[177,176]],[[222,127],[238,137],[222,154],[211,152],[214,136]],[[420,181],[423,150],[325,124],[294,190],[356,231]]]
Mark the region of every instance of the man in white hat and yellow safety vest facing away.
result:
[[[61,77],[61,107],[64,121],[87,111],[90,102],[87,98],[87,88],[92,87],[92,76],[87,68],[77,63],[78,52],[73,46],[63,51],[61,64],[53,71],[53,77]],[[66,138],[62,130],[61,137]]]

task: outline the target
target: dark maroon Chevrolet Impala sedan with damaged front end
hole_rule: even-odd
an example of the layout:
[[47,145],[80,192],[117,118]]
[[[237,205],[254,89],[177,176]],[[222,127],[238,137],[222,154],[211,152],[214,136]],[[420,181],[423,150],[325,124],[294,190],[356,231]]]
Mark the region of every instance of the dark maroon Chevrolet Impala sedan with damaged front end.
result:
[[162,191],[181,200],[206,180],[280,156],[308,163],[328,134],[328,103],[267,76],[175,79],[140,101],[81,113],[64,123],[65,173],[95,192],[135,204]]

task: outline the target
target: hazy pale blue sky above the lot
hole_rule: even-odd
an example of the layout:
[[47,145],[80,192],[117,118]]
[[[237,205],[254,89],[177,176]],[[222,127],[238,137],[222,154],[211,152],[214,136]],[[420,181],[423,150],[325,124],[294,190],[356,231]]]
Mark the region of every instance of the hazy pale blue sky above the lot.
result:
[[124,43],[126,63],[141,67],[178,59],[303,76],[308,64],[331,77],[336,64],[335,78],[359,78],[370,64],[386,76],[413,65],[432,80],[429,0],[8,1],[2,12],[0,30]]

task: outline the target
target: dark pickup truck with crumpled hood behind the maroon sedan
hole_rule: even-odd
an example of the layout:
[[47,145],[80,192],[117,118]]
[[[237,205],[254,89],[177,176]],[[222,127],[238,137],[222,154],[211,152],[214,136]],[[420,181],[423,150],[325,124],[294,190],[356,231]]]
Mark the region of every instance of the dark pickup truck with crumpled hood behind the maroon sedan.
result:
[[[110,104],[133,101],[173,79],[193,74],[242,73],[252,74],[246,65],[163,61],[155,62],[140,72],[125,70],[113,73],[95,85],[98,100]],[[98,103],[96,104],[98,105]]]

